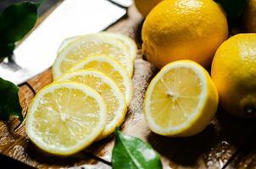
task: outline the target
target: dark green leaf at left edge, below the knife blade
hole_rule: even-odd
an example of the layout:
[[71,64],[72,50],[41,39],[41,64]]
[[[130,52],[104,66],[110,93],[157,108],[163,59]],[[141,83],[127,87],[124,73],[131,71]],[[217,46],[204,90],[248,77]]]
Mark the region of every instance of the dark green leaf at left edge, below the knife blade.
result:
[[7,121],[10,116],[23,121],[22,108],[19,104],[19,87],[0,78],[0,118]]

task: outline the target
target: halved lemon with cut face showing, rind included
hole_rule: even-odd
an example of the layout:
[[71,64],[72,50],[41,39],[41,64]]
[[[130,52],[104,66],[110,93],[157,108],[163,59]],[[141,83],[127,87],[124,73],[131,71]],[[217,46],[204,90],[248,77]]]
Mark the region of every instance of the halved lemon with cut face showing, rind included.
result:
[[147,88],[143,103],[148,126],[156,134],[198,134],[214,117],[218,93],[208,72],[198,63],[166,65]]

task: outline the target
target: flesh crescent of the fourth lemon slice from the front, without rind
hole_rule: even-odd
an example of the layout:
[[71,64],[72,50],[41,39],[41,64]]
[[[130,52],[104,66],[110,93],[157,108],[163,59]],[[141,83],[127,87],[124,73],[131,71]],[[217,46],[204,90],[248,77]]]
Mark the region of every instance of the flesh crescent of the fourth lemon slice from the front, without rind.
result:
[[[75,46],[76,43],[78,43],[78,45]],[[132,68],[130,68],[132,67],[132,65],[130,65],[131,58],[126,56],[129,52],[125,50],[125,46],[121,47],[118,44],[119,41],[111,43],[108,41],[82,41],[82,39],[75,41],[74,43],[70,44],[70,46],[74,46],[67,46],[68,48],[70,47],[68,52],[63,53],[65,50],[60,52],[60,55],[65,55],[64,60],[60,64],[60,72],[62,74],[66,73],[72,66],[75,65],[75,63],[81,62],[82,59],[88,56],[104,54],[117,59],[117,61],[127,69],[127,72],[132,74]]]

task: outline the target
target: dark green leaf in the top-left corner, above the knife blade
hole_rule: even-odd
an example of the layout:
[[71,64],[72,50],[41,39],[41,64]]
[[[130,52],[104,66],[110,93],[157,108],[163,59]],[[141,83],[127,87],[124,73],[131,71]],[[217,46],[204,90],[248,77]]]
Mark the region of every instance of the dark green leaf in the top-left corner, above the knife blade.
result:
[[14,51],[15,42],[22,40],[34,27],[40,4],[15,3],[0,14],[0,58],[9,57]]

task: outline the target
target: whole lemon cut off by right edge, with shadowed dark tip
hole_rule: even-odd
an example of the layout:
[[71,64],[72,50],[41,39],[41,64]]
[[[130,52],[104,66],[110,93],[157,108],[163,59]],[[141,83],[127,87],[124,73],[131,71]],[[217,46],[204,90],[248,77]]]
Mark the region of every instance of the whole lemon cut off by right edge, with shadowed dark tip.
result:
[[212,78],[220,104],[238,117],[256,117],[256,34],[238,34],[217,50]]

